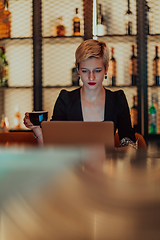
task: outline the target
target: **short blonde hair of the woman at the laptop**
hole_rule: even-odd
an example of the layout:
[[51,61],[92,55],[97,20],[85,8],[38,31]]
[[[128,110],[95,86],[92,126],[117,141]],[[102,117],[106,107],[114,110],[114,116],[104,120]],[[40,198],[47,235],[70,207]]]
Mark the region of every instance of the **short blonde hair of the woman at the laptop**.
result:
[[109,65],[109,49],[105,42],[93,39],[82,42],[75,52],[76,68],[79,69],[80,62],[92,57],[102,58],[106,69]]

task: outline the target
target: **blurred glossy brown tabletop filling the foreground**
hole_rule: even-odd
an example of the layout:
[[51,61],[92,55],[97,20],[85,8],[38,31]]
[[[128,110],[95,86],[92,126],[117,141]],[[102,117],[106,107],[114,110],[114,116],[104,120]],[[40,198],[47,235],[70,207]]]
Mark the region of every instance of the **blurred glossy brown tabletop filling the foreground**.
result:
[[5,240],[160,239],[158,151],[5,149],[0,156]]

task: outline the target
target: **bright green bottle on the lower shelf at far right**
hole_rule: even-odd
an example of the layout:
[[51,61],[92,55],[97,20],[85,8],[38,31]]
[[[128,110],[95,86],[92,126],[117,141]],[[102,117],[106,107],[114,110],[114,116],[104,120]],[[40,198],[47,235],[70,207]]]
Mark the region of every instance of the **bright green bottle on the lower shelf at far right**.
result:
[[153,96],[152,96],[152,104],[151,104],[151,107],[149,108],[149,114],[150,114],[149,133],[150,134],[157,134],[157,110],[154,107]]

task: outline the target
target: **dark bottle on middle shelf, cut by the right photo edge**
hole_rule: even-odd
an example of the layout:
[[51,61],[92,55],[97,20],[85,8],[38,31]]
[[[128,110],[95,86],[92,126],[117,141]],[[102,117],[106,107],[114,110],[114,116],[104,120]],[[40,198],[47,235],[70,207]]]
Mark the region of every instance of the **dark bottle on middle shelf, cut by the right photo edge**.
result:
[[155,58],[153,59],[154,85],[159,85],[160,81],[160,59],[158,56],[158,46],[155,47]]

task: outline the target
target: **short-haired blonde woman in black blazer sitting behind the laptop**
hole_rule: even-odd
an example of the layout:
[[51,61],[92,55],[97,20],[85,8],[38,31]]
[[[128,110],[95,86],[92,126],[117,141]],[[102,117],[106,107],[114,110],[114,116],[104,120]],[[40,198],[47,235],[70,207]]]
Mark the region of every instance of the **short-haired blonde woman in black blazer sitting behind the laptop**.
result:
[[[121,147],[136,148],[124,92],[112,92],[102,86],[109,66],[106,44],[93,39],[86,40],[77,48],[75,57],[83,86],[70,92],[60,92],[51,121],[113,121],[115,131],[118,129]],[[28,113],[25,114],[24,124],[33,130],[38,143],[43,144],[41,128],[30,122]]]

